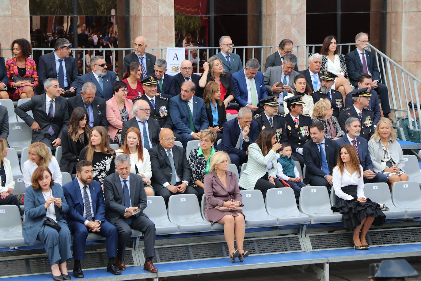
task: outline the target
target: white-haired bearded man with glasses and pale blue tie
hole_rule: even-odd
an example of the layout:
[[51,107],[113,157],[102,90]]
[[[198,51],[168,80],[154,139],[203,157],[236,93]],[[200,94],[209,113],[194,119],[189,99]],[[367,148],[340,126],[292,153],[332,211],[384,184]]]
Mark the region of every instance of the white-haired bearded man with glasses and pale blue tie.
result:
[[130,120],[123,122],[123,129],[121,130],[121,139],[125,139],[128,128],[139,128],[142,137],[142,145],[147,150],[158,144],[158,136],[161,127],[157,120],[150,117],[150,107],[147,101],[138,99],[132,108],[135,115]]

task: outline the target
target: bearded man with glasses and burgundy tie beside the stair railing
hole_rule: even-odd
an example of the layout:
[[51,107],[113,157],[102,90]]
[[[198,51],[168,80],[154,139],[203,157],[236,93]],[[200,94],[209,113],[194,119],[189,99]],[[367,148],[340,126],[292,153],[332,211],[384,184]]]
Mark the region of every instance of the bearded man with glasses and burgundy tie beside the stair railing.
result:
[[348,70],[348,77],[352,85],[357,88],[358,77],[362,73],[367,73],[373,76],[371,84],[372,89],[377,92],[380,97],[381,109],[383,115],[389,118],[390,103],[389,92],[387,86],[381,83],[380,71],[377,67],[376,55],[368,51],[368,34],[360,32],[355,36],[355,45],[357,48],[346,54],[346,69]]

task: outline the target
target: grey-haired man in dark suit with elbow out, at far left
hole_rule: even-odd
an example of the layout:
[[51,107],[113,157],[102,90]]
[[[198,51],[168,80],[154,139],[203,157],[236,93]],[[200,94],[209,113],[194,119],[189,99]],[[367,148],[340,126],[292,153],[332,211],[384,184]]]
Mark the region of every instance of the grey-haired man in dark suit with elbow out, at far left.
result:
[[[61,133],[69,124],[67,99],[60,96],[59,80],[48,78],[44,82],[45,94],[15,108],[15,113],[31,127],[32,142],[43,142],[54,152],[61,145]],[[27,111],[32,110],[34,118]],[[31,143],[32,143],[31,142]]]

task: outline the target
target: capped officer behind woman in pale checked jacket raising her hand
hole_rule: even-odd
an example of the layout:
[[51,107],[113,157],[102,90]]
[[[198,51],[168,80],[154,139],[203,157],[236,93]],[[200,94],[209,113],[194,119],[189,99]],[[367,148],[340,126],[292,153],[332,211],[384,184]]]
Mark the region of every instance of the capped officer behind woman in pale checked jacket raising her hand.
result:
[[285,128],[285,117],[278,113],[277,96],[268,96],[260,100],[264,111],[261,114],[254,115],[253,119],[259,124],[259,131],[264,128],[272,128],[276,131],[276,138],[281,142],[282,131]]

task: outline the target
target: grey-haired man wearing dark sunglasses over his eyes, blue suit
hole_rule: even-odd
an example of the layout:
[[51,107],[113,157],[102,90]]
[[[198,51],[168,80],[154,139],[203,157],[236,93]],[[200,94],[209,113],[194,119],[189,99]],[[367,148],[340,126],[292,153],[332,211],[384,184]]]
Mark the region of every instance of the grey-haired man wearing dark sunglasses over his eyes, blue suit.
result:
[[117,81],[115,72],[107,70],[107,64],[102,56],[92,57],[91,70],[77,78],[77,93],[82,91],[83,84],[92,82],[96,86],[95,96],[101,97],[105,101],[111,99],[114,95],[112,85]]

